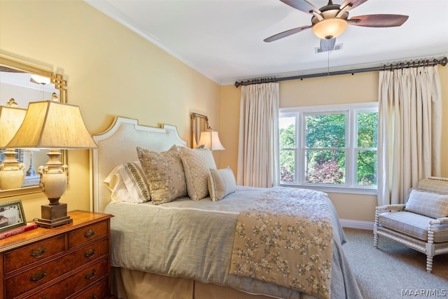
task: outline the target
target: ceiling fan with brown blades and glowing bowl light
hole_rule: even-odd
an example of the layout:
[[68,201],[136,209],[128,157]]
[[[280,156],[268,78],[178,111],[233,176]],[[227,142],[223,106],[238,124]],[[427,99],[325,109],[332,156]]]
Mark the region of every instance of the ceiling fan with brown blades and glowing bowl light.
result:
[[349,19],[349,11],[356,6],[360,6],[367,0],[344,0],[341,5],[333,4],[332,0],[328,1],[326,6],[316,8],[313,4],[306,0],[280,0],[284,4],[288,4],[299,11],[313,15],[311,25],[297,27],[286,30],[279,34],[269,36],[264,41],[271,42],[283,37],[302,32],[312,28],[313,33],[321,39],[333,39],[342,34],[348,25],[361,27],[398,27],[406,22],[407,15],[358,15]]

